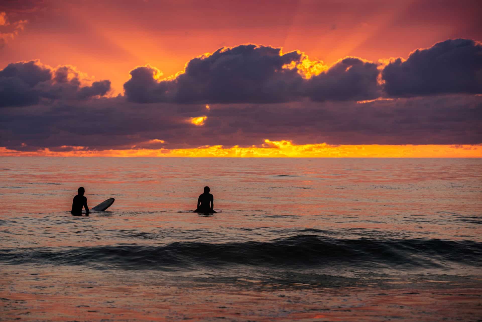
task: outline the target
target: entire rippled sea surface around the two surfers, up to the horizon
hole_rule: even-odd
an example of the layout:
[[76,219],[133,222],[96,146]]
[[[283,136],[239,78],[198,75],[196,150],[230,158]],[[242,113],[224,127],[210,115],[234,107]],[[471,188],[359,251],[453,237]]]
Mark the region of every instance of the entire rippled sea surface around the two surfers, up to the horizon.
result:
[[482,318],[482,159],[0,162],[0,320]]

